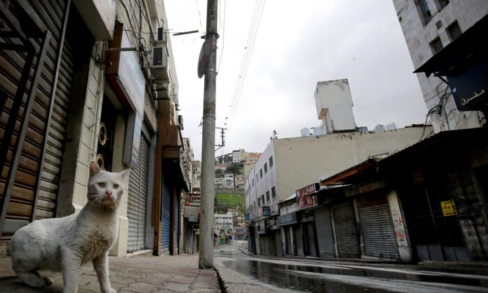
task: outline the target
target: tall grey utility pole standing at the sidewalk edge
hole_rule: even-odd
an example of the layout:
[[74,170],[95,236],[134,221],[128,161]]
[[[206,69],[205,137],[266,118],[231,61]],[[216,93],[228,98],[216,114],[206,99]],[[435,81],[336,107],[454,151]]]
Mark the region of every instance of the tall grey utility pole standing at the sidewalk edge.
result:
[[[213,268],[213,197],[215,196],[215,85],[217,77],[217,3],[207,1],[205,43],[200,63],[204,73],[204,117],[201,142],[201,207],[199,269]],[[199,64],[200,65],[200,64]]]

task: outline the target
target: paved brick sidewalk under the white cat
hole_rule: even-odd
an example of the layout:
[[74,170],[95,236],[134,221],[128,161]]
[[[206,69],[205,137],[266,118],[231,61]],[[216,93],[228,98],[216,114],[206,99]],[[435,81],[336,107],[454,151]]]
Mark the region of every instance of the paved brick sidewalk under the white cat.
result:
[[[110,284],[117,292],[221,292],[213,269],[198,269],[198,255],[110,257]],[[61,292],[61,273],[45,273],[54,283],[43,289],[24,285],[12,271],[10,257],[0,259],[0,292]],[[100,292],[91,264],[82,266],[79,293]]]

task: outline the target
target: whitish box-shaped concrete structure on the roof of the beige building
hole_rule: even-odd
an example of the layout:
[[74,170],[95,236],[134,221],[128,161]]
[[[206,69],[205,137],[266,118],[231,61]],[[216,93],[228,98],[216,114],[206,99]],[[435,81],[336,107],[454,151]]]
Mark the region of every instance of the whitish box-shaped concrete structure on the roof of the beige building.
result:
[[317,82],[314,97],[323,134],[356,129],[348,80]]

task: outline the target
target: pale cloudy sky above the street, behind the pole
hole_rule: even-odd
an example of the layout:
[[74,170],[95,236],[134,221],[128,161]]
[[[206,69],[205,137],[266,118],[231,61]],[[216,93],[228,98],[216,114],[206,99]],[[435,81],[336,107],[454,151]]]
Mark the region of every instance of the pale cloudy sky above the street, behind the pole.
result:
[[[219,2],[216,126],[228,129],[226,145],[215,156],[234,149],[261,152],[273,130],[278,138],[298,137],[301,128],[319,126],[314,90],[320,81],[349,80],[358,126],[372,130],[380,123],[403,127],[425,121],[426,106],[391,0]],[[183,136],[190,137],[200,160],[204,78],[197,76],[197,61],[206,1],[165,0],[165,6],[169,29],[199,30],[171,36],[171,46]],[[247,71],[241,69],[245,60]]]

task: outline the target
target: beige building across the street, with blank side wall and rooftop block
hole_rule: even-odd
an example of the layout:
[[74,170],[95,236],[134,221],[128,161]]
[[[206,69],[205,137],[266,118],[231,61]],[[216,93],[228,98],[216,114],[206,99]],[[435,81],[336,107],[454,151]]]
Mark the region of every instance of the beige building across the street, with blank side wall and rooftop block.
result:
[[[344,90],[335,91],[323,87]],[[327,103],[327,96],[316,96],[317,118],[324,119],[324,130],[332,133],[271,140],[245,181],[245,206],[251,220],[251,232],[259,232],[250,239],[250,245],[253,245],[252,241],[256,241],[258,252],[259,239],[267,236],[263,234],[268,225],[266,223],[275,223],[280,213],[278,203],[294,196],[296,190],[367,158],[386,156],[405,149],[431,132],[430,126],[381,132],[346,132],[353,125],[353,117],[352,121],[339,124],[332,123],[333,119],[328,123],[328,118],[335,117],[336,109],[344,111],[345,107],[340,103],[351,107],[351,98],[343,95],[344,92],[349,92],[349,84],[344,80],[319,82],[317,88],[319,95],[340,93],[342,97],[329,97],[331,103]],[[277,227],[271,231],[280,233]]]

